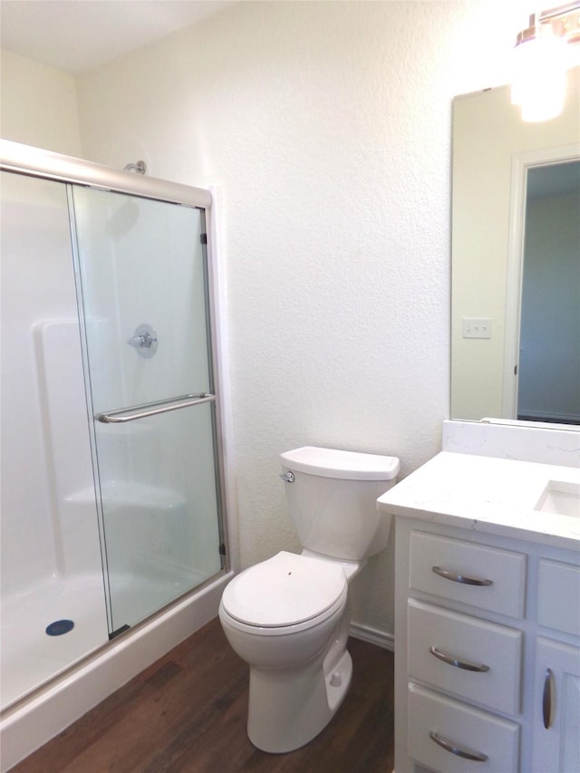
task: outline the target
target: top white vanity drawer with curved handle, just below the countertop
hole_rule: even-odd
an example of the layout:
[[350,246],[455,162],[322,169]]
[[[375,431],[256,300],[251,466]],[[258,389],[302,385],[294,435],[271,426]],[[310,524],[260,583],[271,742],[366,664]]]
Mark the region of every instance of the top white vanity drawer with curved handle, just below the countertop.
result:
[[526,592],[526,556],[413,531],[409,585],[412,590],[521,620]]

